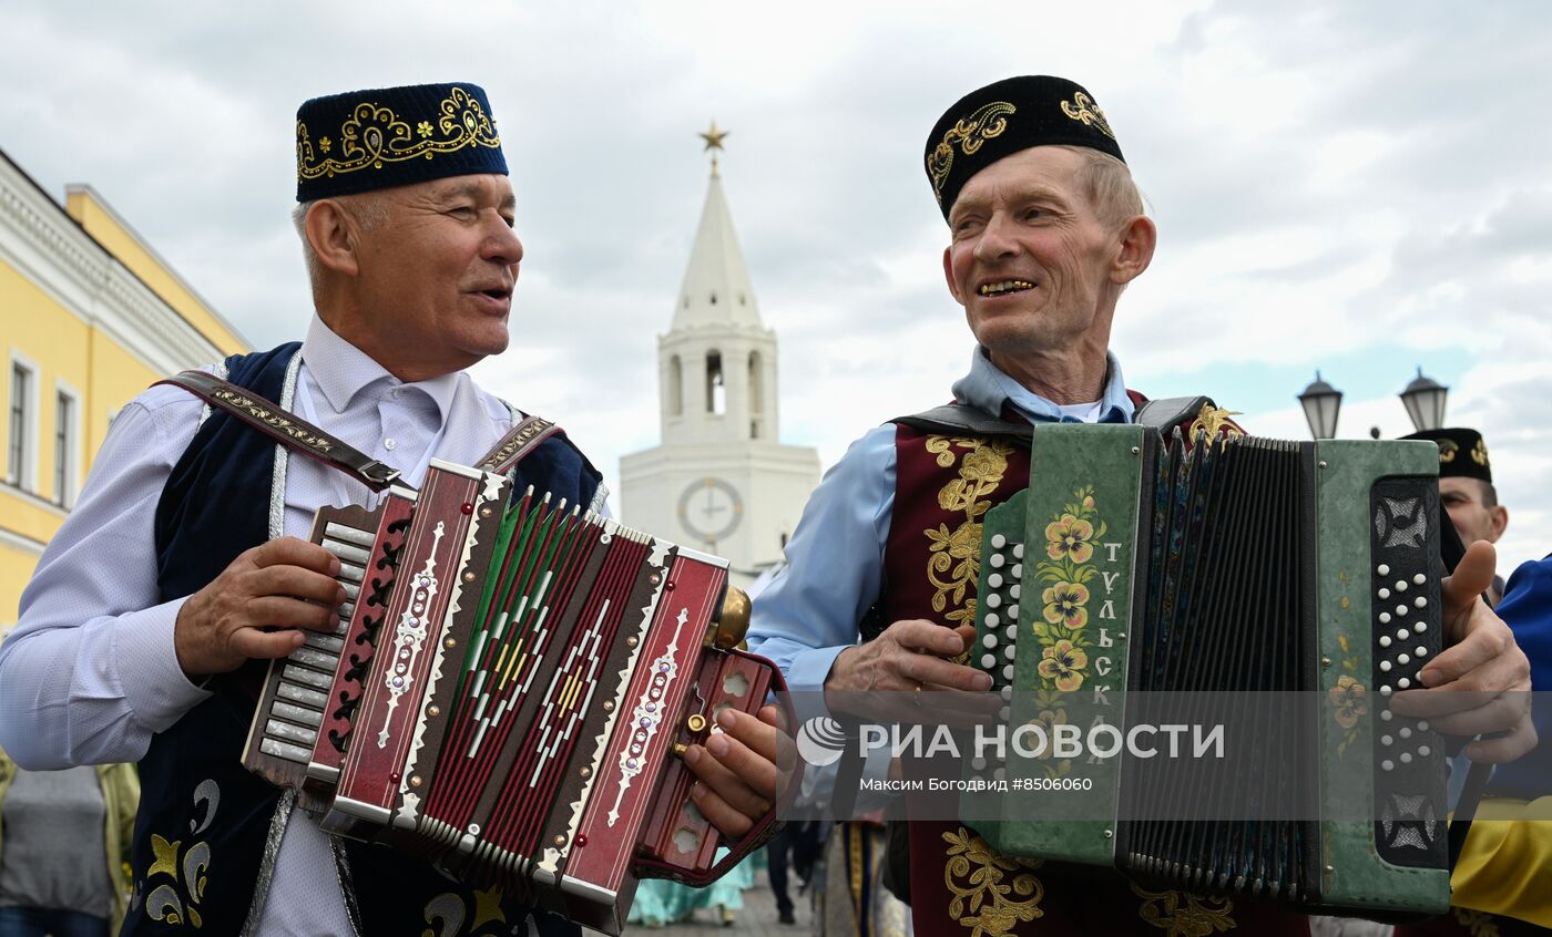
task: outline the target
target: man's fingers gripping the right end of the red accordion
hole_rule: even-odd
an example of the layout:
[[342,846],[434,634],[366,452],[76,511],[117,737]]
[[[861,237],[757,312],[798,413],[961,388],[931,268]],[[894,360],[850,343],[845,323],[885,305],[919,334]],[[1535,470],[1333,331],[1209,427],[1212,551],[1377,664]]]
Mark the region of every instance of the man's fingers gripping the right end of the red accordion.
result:
[[684,763],[700,779],[691,797],[723,836],[748,833],[790,782],[798,746],[784,723],[774,706],[760,709],[759,718],[723,709],[717,714],[722,732],[684,752]]

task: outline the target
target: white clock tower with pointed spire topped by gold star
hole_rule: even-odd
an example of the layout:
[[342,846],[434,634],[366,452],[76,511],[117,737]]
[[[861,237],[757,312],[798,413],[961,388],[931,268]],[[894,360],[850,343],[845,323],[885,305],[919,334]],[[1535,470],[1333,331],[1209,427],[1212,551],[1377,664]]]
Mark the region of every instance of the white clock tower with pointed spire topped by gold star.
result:
[[622,520],[726,557],[748,585],[782,557],[819,484],[813,448],[778,439],[776,332],[760,323],[717,172],[728,133],[700,137],[711,183],[674,323],[658,337],[663,444],[619,461]]

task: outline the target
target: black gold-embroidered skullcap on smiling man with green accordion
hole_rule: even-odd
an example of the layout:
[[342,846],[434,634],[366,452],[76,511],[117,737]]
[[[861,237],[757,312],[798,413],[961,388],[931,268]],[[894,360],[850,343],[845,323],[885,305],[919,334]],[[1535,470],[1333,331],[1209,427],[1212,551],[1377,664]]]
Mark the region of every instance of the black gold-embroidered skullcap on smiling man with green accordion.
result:
[[1032,146],[1086,146],[1125,163],[1083,85],[1051,74],[1004,78],[956,101],[927,138],[927,180],[944,217],[972,175]]

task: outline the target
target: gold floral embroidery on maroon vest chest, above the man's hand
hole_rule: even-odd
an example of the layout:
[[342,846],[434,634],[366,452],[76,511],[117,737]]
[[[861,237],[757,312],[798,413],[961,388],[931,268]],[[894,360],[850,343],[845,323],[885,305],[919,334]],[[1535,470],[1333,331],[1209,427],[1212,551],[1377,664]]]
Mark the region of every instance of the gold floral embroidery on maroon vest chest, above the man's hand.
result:
[[965,520],[953,531],[948,524],[922,531],[931,541],[927,579],[936,590],[933,611],[947,611],[947,621],[975,622],[975,593],[981,583],[981,517],[992,509],[987,496],[1007,475],[1007,456],[1013,447],[1006,442],[928,436],[927,451],[937,456],[937,465],[951,469],[954,450],[968,450],[959,462],[958,478],[937,492],[937,506]]

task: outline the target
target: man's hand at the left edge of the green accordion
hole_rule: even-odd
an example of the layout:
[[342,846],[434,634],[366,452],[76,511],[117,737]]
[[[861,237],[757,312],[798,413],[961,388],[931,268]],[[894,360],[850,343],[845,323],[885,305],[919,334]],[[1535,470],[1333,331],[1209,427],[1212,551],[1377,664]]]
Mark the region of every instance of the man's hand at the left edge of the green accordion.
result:
[[[948,628],[925,619],[899,621],[883,634],[835,658],[824,679],[830,712],[878,721],[944,721],[968,726],[986,721],[999,700],[986,695],[992,678],[948,658],[975,644],[975,625]],[[930,703],[920,692],[934,690]],[[916,706],[902,709],[911,693]]]

